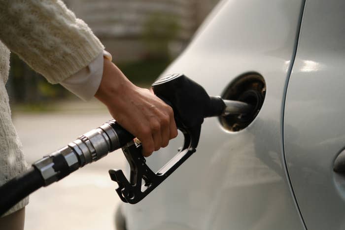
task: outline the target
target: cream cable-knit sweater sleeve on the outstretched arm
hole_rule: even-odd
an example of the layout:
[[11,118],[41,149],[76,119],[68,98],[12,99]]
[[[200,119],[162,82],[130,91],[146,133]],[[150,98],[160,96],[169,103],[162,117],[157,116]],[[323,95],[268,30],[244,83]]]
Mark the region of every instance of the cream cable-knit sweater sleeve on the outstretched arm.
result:
[[61,0],[0,0],[0,40],[50,83],[88,66],[104,49]]

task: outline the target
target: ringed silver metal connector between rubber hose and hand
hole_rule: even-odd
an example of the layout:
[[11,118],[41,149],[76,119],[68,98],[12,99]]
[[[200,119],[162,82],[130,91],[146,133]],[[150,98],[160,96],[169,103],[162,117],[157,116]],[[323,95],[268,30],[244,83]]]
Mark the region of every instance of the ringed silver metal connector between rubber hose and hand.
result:
[[[115,120],[110,120],[35,162],[33,166],[40,172],[44,186],[61,180],[79,167],[98,161],[109,152],[121,148],[117,132],[127,131],[120,127]],[[122,143],[127,143],[130,138],[133,138],[130,133],[127,136],[128,139],[126,138]]]

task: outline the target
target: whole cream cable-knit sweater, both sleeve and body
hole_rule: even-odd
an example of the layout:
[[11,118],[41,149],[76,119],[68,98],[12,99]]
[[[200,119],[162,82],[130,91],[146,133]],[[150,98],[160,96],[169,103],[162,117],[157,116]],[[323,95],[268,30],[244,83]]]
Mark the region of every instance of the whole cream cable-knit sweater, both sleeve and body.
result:
[[[49,82],[59,83],[91,63],[103,49],[90,28],[61,0],[0,0],[0,185],[27,168],[5,89],[9,50]],[[25,198],[6,214],[28,201]]]

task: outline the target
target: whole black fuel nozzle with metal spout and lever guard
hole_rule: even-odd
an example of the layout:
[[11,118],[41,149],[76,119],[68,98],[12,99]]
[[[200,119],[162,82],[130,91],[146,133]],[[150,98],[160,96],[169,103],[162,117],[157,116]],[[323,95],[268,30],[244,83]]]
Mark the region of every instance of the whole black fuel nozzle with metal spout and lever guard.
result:
[[119,185],[116,192],[122,201],[132,204],[146,197],[196,151],[204,118],[241,113],[239,111],[248,110],[249,106],[243,102],[224,102],[219,97],[209,97],[201,85],[183,74],[164,76],[154,82],[152,88],[156,96],[173,108],[176,126],[184,135],[184,143],[173,159],[156,173],[145,164],[140,145],[132,141],[122,148],[131,167],[130,181],[121,170],[109,170],[109,174]]

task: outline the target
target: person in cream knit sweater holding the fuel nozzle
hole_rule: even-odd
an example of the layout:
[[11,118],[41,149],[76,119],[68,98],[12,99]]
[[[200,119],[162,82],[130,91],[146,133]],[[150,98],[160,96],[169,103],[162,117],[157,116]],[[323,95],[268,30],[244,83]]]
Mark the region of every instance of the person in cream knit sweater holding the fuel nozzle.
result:
[[[63,1],[0,0],[0,23],[0,185],[27,169],[5,89],[10,51],[50,83],[62,84],[81,99],[103,102],[111,116],[142,142],[144,156],[177,135],[172,108],[130,82]],[[27,204],[25,198],[5,213],[1,229],[24,229]]]

